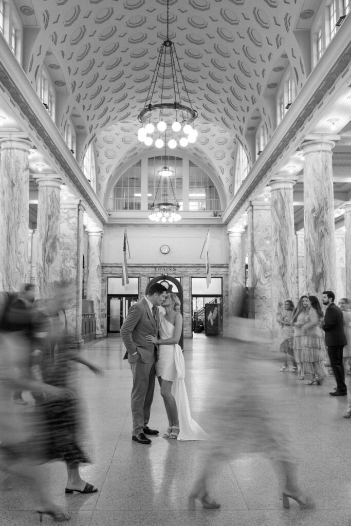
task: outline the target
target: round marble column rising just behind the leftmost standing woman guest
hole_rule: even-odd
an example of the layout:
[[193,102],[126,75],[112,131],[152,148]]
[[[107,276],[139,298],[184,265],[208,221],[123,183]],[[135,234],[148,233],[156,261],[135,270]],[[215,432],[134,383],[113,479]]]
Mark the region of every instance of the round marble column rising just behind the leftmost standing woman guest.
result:
[[279,342],[282,327],[277,318],[284,315],[284,302],[295,300],[295,231],[293,186],[289,179],[272,180],[272,312],[273,338]]

